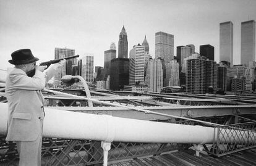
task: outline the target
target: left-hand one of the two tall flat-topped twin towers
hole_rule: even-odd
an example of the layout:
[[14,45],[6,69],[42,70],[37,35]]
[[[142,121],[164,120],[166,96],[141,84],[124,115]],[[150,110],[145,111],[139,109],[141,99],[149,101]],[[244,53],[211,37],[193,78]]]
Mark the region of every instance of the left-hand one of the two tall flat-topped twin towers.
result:
[[228,61],[233,66],[233,23],[220,23],[220,61]]

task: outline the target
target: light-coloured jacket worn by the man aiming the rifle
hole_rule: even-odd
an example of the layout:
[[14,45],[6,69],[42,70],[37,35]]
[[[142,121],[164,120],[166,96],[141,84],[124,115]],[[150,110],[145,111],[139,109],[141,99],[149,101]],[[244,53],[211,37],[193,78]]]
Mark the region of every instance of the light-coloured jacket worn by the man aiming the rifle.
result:
[[41,89],[45,87],[46,80],[45,73],[38,70],[32,78],[19,68],[8,70],[6,98],[9,117],[6,141],[35,141],[38,138],[40,120],[45,117]]

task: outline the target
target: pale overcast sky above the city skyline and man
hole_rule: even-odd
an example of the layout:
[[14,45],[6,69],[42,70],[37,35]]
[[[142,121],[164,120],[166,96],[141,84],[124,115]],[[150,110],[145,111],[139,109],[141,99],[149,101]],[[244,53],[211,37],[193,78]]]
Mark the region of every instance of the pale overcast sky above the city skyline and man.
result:
[[126,28],[128,52],[144,36],[155,57],[155,33],[174,35],[176,46],[211,44],[220,57],[220,23],[234,27],[234,64],[241,62],[241,22],[256,20],[255,0],[0,0],[0,77],[17,49],[30,48],[40,62],[54,59],[54,48],[94,54],[103,66],[104,51]]

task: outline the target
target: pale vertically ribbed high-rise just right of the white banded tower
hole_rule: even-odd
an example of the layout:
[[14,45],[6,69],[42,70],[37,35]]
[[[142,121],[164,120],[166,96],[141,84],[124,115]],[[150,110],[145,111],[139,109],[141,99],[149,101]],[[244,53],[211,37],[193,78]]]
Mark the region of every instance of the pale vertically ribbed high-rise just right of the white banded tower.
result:
[[163,60],[162,59],[150,59],[147,67],[147,81],[149,92],[160,93],[163,88]]

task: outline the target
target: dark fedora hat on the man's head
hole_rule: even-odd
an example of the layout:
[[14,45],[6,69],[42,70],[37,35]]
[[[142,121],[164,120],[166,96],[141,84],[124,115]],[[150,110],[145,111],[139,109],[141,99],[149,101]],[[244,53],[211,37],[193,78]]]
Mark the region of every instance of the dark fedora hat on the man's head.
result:
[[13,65],[22,65],[30,64],[39,60],[37,57],[34,57],[30,49],[19,49],[12,52],[12,59],[9,60],[10,64]]

